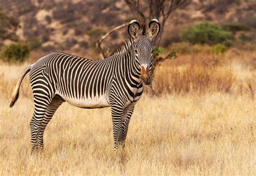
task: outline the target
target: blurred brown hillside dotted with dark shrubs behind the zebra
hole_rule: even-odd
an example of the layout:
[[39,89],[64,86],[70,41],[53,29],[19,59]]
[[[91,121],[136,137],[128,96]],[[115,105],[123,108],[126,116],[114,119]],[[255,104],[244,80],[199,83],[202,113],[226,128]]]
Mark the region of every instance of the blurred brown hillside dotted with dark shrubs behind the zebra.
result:
[[[82,52],[94,50],[96,40],[112,27],[130,21],[132,13],[124,1],[0,0],[0,7],[20,20],[21,40],[41,43],[43,51]],[[179,40],[182,27],[203,20],[240,23],[256,28],[256,1],[192,1],[174,11],[166,23],[161,45]],[[112,34],[108,46],[127,36],[126,29]]]

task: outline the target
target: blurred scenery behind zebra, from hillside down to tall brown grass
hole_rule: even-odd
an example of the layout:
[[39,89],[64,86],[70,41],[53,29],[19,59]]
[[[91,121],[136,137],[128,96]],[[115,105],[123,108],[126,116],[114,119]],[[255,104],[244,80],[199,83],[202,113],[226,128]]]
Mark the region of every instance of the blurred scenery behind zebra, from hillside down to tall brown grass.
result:
[[[134,18],[142,23],[158,18],[161,33],[154,41],[153,95],[224,91],[254,98],[256,1],[0,0],[0,4],[1,65],[35,62],[55,51],[100,59],[96,43],[111,29]],[[126,26],[114,31],[102,42],[103,51],[109,48],[110,54],[128,37]]]

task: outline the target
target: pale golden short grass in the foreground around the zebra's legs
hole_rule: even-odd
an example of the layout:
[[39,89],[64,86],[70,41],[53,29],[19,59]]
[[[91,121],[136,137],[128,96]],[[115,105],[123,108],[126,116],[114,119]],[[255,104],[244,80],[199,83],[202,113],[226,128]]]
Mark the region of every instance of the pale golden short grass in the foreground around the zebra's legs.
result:
[[64,103],[48,124],[42,153],[30,156],[31,98],[0,99],[1,175],[253,175],[255,101],[225,93],[144,94],[126,139],[113,151],[110,109]]

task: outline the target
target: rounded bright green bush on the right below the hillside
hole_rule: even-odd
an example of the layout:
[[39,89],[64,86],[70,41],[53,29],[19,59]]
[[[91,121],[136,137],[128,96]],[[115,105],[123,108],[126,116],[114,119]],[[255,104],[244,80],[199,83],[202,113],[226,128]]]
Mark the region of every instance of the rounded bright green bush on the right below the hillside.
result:
[[230,45],[228,40],[230,40],[231,35],[219,25],[202,22],[181,31],[180,37],[181,40],[192,44],[215,45],[224,43]]

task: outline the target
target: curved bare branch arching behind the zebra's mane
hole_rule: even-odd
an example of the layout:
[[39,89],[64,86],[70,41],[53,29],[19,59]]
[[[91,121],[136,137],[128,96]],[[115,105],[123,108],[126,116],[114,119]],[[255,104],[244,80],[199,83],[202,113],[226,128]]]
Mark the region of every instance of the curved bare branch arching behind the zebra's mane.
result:
[[97,41],[97,43],[96,43],[96,48],[97,48],[97,51],[98,51],[98,53],[99,53],[99,55],[100,55],[100,57],[101,57],[102,59],[108,57],[108,55],[109,55],[109,48],[107,48],[107,51],[106,51],[106,52],[103,51],[103,48],[101,47],[102,41],[103,41],[107,36],[109,36],[111,33],[113,33],[114,31],[117,31],[117,30],[119,30],[119,29],[121,29],[121,28],[127,26],[128,24],[129,24],[129,23],[125,23],[125,24],[119,25],[119,26],[117,26],[117,27],[114,27],[112,30],[110,30],[109,32],[107,32],[104,36],[100,37],[100,39]]

